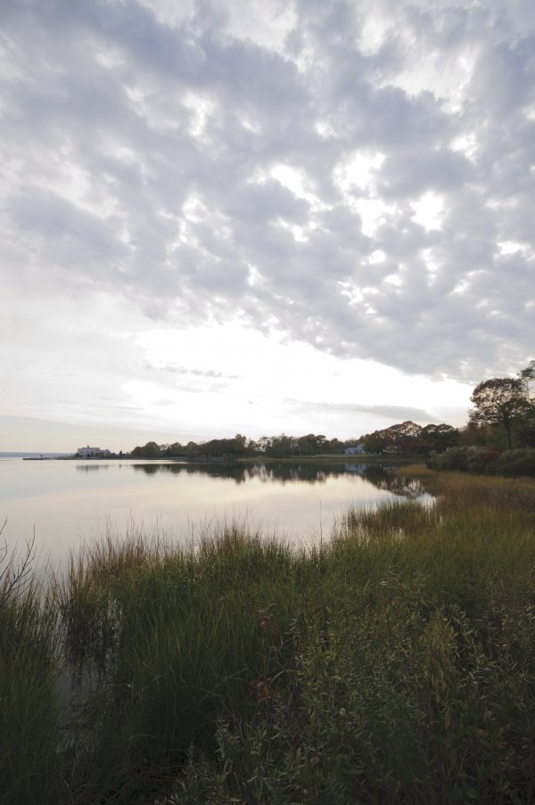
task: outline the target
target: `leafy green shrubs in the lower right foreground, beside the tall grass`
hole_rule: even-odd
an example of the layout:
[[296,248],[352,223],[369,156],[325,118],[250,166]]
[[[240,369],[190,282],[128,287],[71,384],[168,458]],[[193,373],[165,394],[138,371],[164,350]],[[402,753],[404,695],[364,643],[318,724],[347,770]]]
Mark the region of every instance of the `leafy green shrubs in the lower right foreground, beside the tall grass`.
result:
[[456,605],[422,607],[399,584],[377,604],[275,632],[255,706],[219,719],[216,758],[192,745],[161,805],[523,801],[531,703],[498,646],[508,629],[489,642]]

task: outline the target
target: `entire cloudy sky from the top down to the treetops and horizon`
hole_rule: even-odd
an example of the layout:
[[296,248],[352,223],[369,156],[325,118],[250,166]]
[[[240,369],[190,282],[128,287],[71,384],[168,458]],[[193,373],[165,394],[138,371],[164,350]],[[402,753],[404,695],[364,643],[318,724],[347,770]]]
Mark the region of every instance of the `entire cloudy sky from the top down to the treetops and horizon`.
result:
[[467,420],[535,355],[532,0],[4,0],[0,451]]

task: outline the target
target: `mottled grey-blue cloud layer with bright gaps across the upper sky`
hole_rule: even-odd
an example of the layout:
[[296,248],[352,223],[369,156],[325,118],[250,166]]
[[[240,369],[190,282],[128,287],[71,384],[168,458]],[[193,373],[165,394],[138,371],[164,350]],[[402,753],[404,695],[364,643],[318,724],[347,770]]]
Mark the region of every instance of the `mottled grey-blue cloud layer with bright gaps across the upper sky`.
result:
[[525,365],[529,4],[171,5],[3,5],[7,303],[98,333],[105,293],[465,382]]

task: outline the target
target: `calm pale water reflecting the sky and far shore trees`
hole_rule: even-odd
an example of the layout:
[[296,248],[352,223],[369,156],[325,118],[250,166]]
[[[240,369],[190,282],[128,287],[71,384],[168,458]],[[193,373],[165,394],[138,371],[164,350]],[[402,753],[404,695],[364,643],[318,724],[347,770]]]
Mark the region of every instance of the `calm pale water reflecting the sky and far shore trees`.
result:
[[0,524],[8,546],[34,529],[55,563],[85,539],[132,523],[189,542],[213,521],[240,519],[295,543],[328,538],[349,505],[411,497],[419,483],[362,464],[206,465],[144,461],[0,460]]

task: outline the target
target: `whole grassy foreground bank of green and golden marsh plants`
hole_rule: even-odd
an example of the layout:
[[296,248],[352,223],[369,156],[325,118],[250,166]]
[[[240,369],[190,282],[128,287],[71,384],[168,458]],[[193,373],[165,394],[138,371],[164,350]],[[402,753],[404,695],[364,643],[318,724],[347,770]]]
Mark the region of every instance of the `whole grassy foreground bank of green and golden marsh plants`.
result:
[[535,483],[410,472],[316,548],[109,535],[12,596],[0,802],[534,801]]

